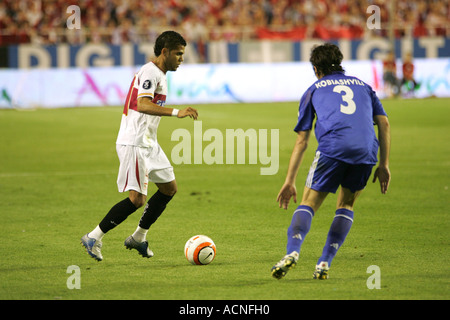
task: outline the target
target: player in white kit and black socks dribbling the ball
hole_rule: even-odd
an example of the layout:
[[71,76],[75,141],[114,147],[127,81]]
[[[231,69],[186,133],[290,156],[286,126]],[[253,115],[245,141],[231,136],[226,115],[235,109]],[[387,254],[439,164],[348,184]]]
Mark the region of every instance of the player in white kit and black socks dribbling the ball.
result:
[[117,154],[120,160],[117,186],[129,196],[117,203],[98,226],[81,238],[89,255],[97,261],[101,254],[102,238],[122,223],[147,200],[148,182],[158,190],[149,199],[136,231],[125,240],[127,249],[136,249],[143,257],[153,252],[146,240],[150,226],[158,219],[177,192],[173,167],[158,144],[157,130],[161,116],[197,119],[197,110],[164,107],[167,96],[167,71],[176,71],[183,62],[186,41],[175,31],[158,36],[154,46],[156,58],[145,64],[134,76],[120,123]]

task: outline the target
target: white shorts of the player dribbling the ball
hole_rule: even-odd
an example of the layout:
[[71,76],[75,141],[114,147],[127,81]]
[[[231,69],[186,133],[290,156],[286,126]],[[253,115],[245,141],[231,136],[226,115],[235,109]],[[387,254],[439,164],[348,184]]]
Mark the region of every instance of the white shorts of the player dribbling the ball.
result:
[[147,195],[149,181],[167,183],[175,180],[173,167],[159,145],[140,148],[118,144],[116,148],[120,161],[119,192],[134,190]]

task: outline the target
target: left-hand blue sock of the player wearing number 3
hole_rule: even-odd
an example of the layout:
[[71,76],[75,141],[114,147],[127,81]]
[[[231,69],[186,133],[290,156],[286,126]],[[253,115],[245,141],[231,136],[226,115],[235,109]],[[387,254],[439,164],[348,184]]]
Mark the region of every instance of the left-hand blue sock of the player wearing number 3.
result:
[[314,217],[314,210],[308,206],[298,206],[292,215],[291,225],[288,228],[286,254],[292,251],[300,253],[300,247],[306,234],[311,228],[311,220]]

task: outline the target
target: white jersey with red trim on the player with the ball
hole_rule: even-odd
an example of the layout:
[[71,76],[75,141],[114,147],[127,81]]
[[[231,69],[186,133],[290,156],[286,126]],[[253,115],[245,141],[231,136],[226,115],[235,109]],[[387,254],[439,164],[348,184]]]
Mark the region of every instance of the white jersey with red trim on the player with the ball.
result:
[[116,143],[143,148],[156,146],[161,117],[137,111],[137,100],[140,97],[150,97],[153,103],[164,107],[166,96],[166,74],[153,62],[142,66],[131,82]]

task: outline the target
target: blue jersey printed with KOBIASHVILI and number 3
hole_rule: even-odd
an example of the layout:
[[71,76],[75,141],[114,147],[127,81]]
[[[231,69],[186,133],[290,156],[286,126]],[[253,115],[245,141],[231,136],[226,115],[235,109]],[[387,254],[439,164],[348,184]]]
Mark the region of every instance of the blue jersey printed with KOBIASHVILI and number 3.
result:
[[301,98],[294,131],[311,130],[317,117],[318,151],[350,164],[376,164],[376,115],[386,112],[372,88],[358,78],[333,72],[317,80]]

